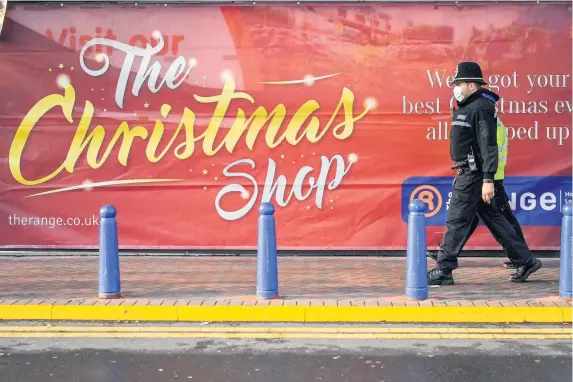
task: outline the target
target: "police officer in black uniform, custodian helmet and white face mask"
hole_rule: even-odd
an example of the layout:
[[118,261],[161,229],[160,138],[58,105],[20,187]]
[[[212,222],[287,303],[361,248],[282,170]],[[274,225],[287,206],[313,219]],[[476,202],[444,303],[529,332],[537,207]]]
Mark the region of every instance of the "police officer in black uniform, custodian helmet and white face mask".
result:
[[[513,230],[501,212],[492,206],[495,194],[494,175],[498,167],[496,141],[497,94],[483,89],[481,68],[475,62],[461,62],[454,75],[454,97],[458,110],[453,113],[450,131],[450,157],[456,169],[448,209],[446,232],[438,252],[436,268],[428,272],[429,285],[452,285],[452,271],[458,267],[458,256],[469,238],[476,214],[507,250],[517,266],[510,281],[525,281],[542,266]],[[491,97],[493,102],[487,97]]]

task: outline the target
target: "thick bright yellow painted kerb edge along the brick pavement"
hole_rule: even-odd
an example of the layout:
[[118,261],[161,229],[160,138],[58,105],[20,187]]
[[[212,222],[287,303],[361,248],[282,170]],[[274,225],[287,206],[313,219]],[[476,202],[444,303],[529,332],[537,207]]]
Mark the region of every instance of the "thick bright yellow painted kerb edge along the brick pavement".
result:
[[0,320],[571,323],[571,307],[0,305]]

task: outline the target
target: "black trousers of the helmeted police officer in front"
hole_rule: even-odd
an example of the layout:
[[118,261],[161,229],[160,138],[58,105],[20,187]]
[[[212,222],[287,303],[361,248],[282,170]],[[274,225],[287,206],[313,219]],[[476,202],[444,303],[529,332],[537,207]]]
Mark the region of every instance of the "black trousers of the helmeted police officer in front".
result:
[[458,267],[458,256],[470,237],[476,214],[499,239],[514,264],[525,265],[531,259],[525,240],[516,233],[499,209],[494,208],[495,203],[483,201],[482,186],[481,171],[458,171],[446,219],[446,232],[438,252],[438,268],[443,272],[451,272]]

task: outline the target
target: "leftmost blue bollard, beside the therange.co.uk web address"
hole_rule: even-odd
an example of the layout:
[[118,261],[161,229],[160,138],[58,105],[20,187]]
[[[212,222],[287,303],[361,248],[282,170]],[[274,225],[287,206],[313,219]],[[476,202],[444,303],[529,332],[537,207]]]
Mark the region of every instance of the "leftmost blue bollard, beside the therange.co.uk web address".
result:
[[121,297],[116,210],[105,205],[99,210],[99,298]]

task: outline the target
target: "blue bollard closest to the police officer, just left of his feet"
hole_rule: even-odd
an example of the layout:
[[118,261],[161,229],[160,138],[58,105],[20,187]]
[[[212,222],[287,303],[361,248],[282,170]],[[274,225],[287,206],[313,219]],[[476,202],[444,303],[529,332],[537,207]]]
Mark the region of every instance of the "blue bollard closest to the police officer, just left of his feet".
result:
[[428,298],[426,259],[426,205],[414,199],[408,206],[408,249],[406,251],[406,296],[413,300]]

